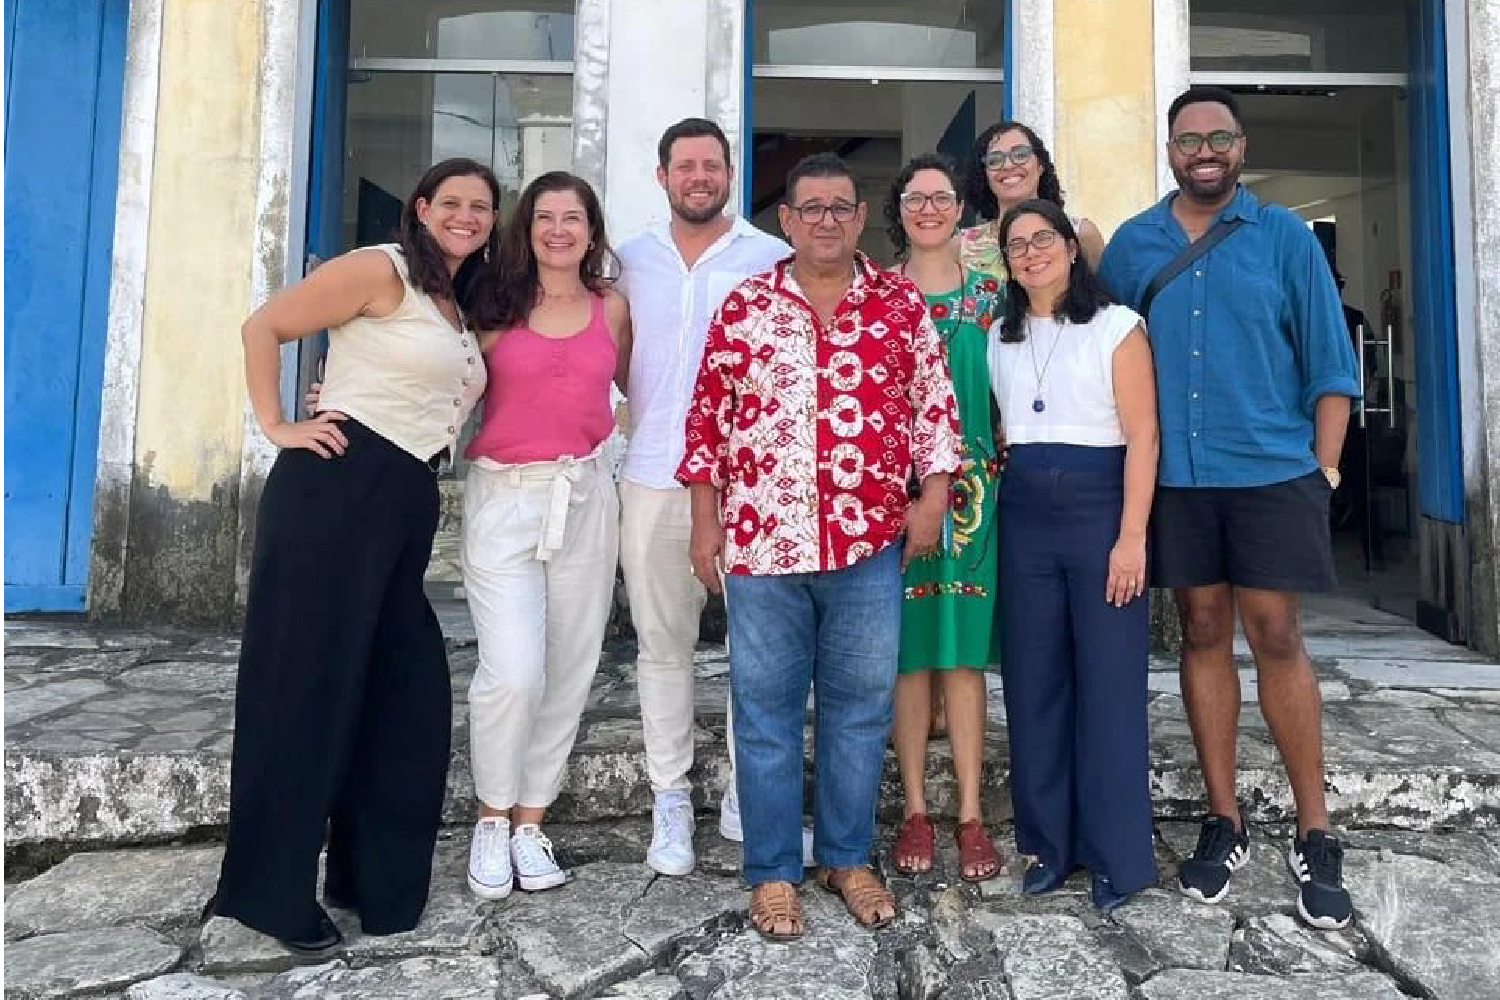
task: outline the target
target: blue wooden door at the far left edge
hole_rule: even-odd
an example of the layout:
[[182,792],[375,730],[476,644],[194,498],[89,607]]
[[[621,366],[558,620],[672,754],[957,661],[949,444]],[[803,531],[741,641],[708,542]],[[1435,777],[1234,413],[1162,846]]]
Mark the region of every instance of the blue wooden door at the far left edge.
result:
[[4,609],[82,610],[129,0],[6,0]]

